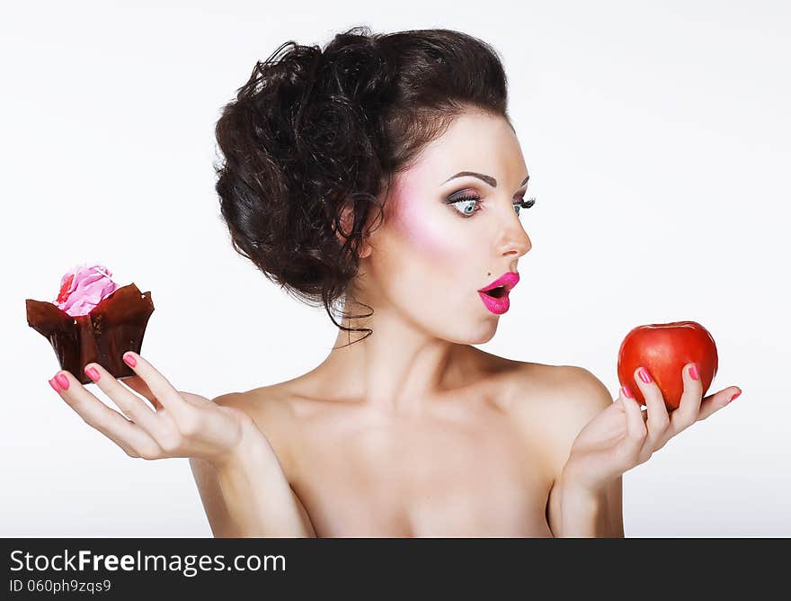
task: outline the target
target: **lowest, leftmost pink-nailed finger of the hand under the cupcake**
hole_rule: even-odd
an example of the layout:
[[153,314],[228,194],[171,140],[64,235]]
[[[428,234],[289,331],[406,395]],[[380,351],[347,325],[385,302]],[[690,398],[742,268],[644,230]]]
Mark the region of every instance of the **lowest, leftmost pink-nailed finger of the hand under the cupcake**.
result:
[[67,371],[58,372],[52,382],[58,395],[73,408],[83,421],[118,444],[130,457],[141,457],[143,452],[158,446],[140,426],[132,424],[118,411],[107,407]]

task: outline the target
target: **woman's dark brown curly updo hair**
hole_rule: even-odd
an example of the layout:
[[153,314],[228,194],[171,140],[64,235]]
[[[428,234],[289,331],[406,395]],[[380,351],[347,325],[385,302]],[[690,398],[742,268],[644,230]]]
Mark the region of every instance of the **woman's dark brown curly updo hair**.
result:
[[461,112],[511,123],[506,87],[496,50],[459,31],[359,26],[324,49],[283,43],[217,122],[215,187],[233,247],[337,327],[369,336],[338,323],[333,306],[350,292],[370,211],[382,219],[392,176]]

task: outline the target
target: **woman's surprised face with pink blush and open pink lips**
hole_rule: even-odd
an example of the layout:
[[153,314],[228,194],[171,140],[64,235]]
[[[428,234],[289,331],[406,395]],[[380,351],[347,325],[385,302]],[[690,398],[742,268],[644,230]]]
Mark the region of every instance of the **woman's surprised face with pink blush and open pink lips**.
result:
[[[483,179],[456,177],[461,172]],[[384,219],[360,261],[360,300],[375,318],[394,311],[451,342],[491,339],[502,306],[487,308],[477,291],[517,272],[531,248],[517,213],[524,210],[515,208],[527,177],[507,121],[479,112],[459,116],[394,178]]]

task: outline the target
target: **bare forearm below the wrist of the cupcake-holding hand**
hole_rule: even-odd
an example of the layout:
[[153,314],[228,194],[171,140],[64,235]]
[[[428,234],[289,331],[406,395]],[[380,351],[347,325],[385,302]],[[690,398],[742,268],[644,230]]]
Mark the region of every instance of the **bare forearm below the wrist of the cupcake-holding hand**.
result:
[[[215,399],[219,405],[230,395]],[[229,403],[230,404],[230,403]],[[305,507],[271,444],[252,419],[233,458],[219,467],[191,458],[190,467],[214,536],[315,537]]]

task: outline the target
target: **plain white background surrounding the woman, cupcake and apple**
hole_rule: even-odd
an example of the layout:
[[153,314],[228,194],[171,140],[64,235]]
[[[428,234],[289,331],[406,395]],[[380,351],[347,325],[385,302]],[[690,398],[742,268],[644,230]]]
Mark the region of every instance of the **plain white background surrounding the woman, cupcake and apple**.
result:
[[144,356],[209,398],[320,363],[324,311],[230,246],[213,128],[256,59],[365,24],[467,31],[502,55],[538,205],[482,348],[584,366],[615,397],[623,336],[692,319],[719,350],[710,391],[742,388],[627,471],[627,536],[788,536],[789,17],[755,1],[5,8],[0,534],[210,535],[186,459],[130,459],[49,388],[57,358],[24,300],[107,265],[152,292]]

